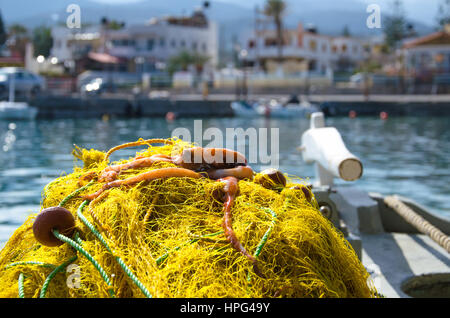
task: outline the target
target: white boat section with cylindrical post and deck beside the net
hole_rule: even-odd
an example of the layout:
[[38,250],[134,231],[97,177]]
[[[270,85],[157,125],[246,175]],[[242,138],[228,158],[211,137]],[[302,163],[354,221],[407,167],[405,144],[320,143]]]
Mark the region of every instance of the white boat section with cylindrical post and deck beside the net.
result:
[[362,177],[363,165],[339,132],[325,127],[323,113],[312,114],[300,149],[316,165],[312,191],[320,211],[352,245],[381,295],[450,297],[450,220],[408,198],[334,185],[335,177]]

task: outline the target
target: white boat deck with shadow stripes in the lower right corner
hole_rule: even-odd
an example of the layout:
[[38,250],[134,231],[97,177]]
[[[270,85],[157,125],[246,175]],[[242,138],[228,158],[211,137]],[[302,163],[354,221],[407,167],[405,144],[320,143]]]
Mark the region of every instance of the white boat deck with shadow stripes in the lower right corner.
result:
[[388,232],[360,235],[362,262],[369,272],[373,271],[375,287],[385,297],[411,297],[401,286],[413,276],[450,277],[450,254],[427,235]]

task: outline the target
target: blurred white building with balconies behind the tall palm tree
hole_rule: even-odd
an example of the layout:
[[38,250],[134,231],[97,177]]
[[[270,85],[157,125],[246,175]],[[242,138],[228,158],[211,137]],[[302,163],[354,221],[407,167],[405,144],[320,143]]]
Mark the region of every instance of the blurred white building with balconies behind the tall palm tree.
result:
[[[256,30],[246,42],[247,63],[261,66],[269,73],[279,67],[275,30]],[[297,29],[283,30],[285,74],[351,72],[364,56],[364,41],[358,38],[319,34],[315,28],[304,28],[301,23]]]

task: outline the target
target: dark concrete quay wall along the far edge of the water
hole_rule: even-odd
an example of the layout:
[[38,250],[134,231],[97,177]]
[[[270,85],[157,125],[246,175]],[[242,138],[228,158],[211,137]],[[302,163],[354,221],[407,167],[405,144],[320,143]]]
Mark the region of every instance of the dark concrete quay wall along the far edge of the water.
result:
[[[287,95],[253,95],[252,100]],[[310,95],[326,116],[450,116],[450,95]],[[203,98],[198,94],[173,95],[166,99],[150,99],[134,95],[39,96],[29,100],[38,108],[38,118],[164,117],[168,112],[177,117],[230,117],[234,94],[216,94]]]

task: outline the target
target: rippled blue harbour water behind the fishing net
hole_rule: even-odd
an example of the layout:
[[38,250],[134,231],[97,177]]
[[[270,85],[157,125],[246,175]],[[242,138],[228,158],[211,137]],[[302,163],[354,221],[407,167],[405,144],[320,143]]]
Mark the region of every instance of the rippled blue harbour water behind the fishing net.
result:
[[[337,180],[337,184],[399,194],[450,218],[448,118],[327,118],[326,124],[340,131],[349,150],[364,165],[360,180],[352,183]],[[223,131],[223,138],[227,128],[256,131],[268,128],[269,153],[273,149],[270,129],[275,128],[279,168],[290,175],[314,178],[314,167],[303,162],[298,149],[302,133],[309,127],[306,119],[209,118],[202,119],[201,125],[202,131],[218,128]],[[194,134],[194,119],[171,123],[151,118],[0,121],[0,246],[28,215],[39,211],[43,187],[72,172],[76,163],[71,155],[74,144],[107,150],[139,138],[167,138],[176,128],[187,128]],[[204,145],[209,141],[205,139]],[[246,149],[251,151],[248,140],[240,142],[245,142]],[[127,157],[135,151],[121,150],[117,156]],[[262,165],[255,163],[252,167],[258,171]]]

